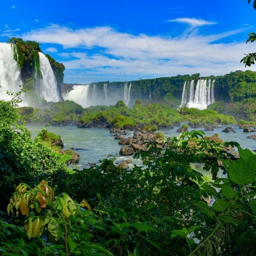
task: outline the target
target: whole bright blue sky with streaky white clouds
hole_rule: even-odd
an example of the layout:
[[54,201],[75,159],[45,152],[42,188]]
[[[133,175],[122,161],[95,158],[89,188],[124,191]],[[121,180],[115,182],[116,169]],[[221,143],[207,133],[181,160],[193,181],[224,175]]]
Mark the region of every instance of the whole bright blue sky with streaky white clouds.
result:
[[65,83],[224,75],[256,52],[247,0],[2,0],[0,17],[0,42],[42,43]]

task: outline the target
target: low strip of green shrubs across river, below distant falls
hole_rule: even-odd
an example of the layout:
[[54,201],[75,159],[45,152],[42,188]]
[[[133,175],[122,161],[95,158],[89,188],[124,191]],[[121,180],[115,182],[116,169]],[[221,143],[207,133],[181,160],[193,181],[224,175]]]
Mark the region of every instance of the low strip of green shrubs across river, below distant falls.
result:
[[[20,114],[32,113],[33,107],[20,107]],[[98,127],[106,123],[116,128],[150,128],[157,126],[157,129],[170,128],[173,125],[179,126],[180,122],[187,121],[191,126],[207,124],[235,124],[233,116],[218,114],[213,110],[199,110],[196,108],[182,107],[180,110],[173,109],[166,105],[149,103],[142,105],[137,100],[133,108],[128,108],[123,101],[118,101],[114,106],[95,106],[84,108],[73,101],[54,103],[50,109],[39,109],[31,117],[33,123],[51,122],[51,125],[62,126],[78,124],[78,127]]]

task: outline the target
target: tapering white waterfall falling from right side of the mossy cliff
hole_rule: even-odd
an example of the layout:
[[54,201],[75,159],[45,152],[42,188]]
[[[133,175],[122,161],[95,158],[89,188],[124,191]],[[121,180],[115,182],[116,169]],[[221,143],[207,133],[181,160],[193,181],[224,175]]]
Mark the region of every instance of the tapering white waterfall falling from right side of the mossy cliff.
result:
[[54,72],[51,68],[51,64],[47,57],[39,52],[40,58],[40,69],[42,72],[43,78],[39,78],[36,85],[40,88],[40,96],[46,101],[58,102],[61,101],[59,93],[58,93],[58,84],[55,78]]

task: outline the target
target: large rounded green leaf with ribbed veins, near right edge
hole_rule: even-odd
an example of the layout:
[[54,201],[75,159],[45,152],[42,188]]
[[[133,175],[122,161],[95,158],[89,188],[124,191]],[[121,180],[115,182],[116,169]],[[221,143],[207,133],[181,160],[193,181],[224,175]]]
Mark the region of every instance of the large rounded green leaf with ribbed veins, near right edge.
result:
[[255,170],[248,164],[246,160],[238,159],[230,165],[228,170],[229,178],[235,184],[243,185],[253,183],[255,181]]

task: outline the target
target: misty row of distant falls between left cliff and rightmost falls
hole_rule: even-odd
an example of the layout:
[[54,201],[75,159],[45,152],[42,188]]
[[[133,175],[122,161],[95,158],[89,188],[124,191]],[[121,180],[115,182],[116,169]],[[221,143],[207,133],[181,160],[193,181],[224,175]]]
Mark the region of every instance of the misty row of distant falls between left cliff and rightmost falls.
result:
[[122,100],[128,106],[130,101],[131,83],[121,85],[120,91],[109,93],[107,84],[101,88],[97,85],[74,85],[71,91],[67,91],[63,95],[64,100],[74,101],[83,107],[91,107],[97,105],[110,106],[115,105],[117,101]]

